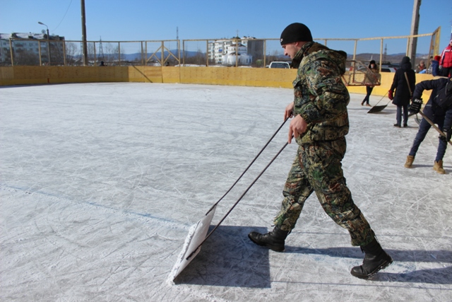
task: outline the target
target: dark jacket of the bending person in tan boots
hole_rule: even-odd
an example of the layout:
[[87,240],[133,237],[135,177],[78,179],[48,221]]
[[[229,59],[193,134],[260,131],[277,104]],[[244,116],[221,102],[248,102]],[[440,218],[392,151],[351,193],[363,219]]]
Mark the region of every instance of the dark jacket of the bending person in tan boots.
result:
[[[429,101],[424,106],[426,115],[435,124],[443,124],[446,112],[452,111],[452,93],[447,93],[446,84],[451,82],[446,78],[422,81],[416,85],[413,98],[421,98],[424,90],[432,90]],[[450,83],[449,85],[452,85]]]

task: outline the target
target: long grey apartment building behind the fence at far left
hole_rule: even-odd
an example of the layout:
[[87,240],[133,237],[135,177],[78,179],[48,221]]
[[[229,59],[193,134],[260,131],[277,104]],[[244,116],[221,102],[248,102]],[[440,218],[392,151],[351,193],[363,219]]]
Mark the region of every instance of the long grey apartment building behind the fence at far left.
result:
[[[0,33],[0,64],[11,64],[11,47],[14,64],[49,63],[49,44],[47,35],[42,33]],[[57,42],[58,41],[58,42]],[[50,61],[52,64],[63,64],[64,37],[50,35]]]

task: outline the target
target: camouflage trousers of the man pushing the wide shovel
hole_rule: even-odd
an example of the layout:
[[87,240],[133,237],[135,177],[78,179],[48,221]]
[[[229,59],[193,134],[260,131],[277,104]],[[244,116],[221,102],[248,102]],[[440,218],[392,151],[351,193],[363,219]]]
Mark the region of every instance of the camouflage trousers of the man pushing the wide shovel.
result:
[[316,141],[298,147],[275,226],[283,231],[295,228],[304,202],[315,191],[326,214],[349,231],[352,245],[367,245],[374,239],[374,231],[353,202],[345,183],[341,161],[346,147],[345,139]]

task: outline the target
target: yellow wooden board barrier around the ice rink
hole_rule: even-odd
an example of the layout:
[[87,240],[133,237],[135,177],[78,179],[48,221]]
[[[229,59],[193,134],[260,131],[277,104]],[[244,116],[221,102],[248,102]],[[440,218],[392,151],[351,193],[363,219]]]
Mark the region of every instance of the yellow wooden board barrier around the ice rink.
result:
[[[0,86],[55,83],[191,83],[226,86],[292,88],[296,69],[192,67],[192,66],[6,66],[0,67]],[[381,73],[381,85],[372,95],[385,95],[394,73]],[[431,80],[416,74],[416,83]],[[350,93],[366,93],[365,86],[347,86]],[[430,91],[423,95],[427,102]]]

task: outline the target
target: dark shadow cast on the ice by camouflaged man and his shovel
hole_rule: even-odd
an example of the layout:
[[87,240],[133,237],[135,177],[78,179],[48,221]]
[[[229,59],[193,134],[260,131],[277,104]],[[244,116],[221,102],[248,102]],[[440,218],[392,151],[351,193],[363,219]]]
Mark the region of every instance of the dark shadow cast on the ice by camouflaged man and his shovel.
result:
[[[209,232],[213,229],[210,226]],[[270,288],[268,249],[251,243],[250,231],[268,232],[267,228],[250,226],[219,226],[203,243],[201,251],[174,279],[175,284]],[[388,250],[394,262],[452,263],[450,250]],[[299,248],[286,245],[287,253],[328,255],[354,258],[362,263],[359,248]],[[437,269],[420,269],[406,273],[379,272],[372,280],[428,284],[452,284],[452,265]]]

